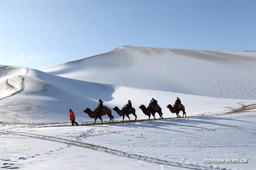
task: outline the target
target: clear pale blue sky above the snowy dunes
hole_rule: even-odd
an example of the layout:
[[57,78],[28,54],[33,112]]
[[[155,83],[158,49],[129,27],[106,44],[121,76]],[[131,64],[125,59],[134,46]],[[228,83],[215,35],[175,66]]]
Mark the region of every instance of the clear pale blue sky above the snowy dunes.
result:
[[1,64],[42,68],[124,45],[255,51],[255,1],[1,1]]

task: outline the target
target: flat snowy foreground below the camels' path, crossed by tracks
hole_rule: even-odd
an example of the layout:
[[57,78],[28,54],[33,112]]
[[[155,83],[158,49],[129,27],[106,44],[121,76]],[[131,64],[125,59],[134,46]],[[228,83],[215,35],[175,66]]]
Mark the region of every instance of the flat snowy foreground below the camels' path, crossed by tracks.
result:
[[[74,127],[1,123],[0,163],[19,169],[252,170],[255,113]],[[210,158],[247,163],[204,163]]]

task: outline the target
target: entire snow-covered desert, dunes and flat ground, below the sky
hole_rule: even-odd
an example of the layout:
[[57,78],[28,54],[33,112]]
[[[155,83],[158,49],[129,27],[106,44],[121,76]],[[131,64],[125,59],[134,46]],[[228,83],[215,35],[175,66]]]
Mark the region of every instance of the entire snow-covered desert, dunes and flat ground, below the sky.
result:
[[[255,52],[124,46],[40,70],[1,65],[0,78],[1,168],[255,169]],[[166,108],[177,96],[187,117]],[[164,119],[139,109],[151,98]],[[137,121],[112,110],[114,123],[93,125],[82,111],[99,99],[131,100]]]

